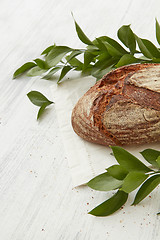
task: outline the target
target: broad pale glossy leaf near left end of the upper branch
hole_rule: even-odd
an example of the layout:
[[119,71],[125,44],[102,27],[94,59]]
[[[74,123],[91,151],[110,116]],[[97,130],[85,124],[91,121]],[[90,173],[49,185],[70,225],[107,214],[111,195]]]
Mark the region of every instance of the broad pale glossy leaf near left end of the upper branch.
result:
[[54,67],[62,58],[73,49],[66,46],[56,46],[47,55],[46,62],[49,66]]

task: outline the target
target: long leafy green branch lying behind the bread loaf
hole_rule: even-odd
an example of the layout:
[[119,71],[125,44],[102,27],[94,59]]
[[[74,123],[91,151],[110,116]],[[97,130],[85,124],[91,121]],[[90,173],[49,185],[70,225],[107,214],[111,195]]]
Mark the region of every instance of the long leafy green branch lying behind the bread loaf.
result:
[[[41,76],[42,79],[52,80],[56,79],[55,74],[59,73],[57,80],[59,84],[68,72],[79,71],[82,75],[92,75],[99,80],[110,70],[124,65],[160,63],[160,48],[147,39],[139,38],[130,25],[123,25],[117,31],[122,46],[108,36],[101,36],[91,41],[75,20],[74,22],[79,39],[86,45],[84,49],[56,44],[49,46],[42,52],[41,58],[36,58],[18,68],[13,78],[26,73],[29,77]],[[157,20],[156,39],[160,45],[160,25]]]

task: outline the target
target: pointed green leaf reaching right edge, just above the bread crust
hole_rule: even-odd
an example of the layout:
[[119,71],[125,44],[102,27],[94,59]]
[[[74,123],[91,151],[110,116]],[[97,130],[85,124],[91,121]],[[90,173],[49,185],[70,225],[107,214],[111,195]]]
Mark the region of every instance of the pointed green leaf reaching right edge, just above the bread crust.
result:
[[136,40],[138,43],[138,46],[143,53],[144,56],[147,58],[160,58],[160,51],[158,48],[149,40],[142,39],[136,36]]

